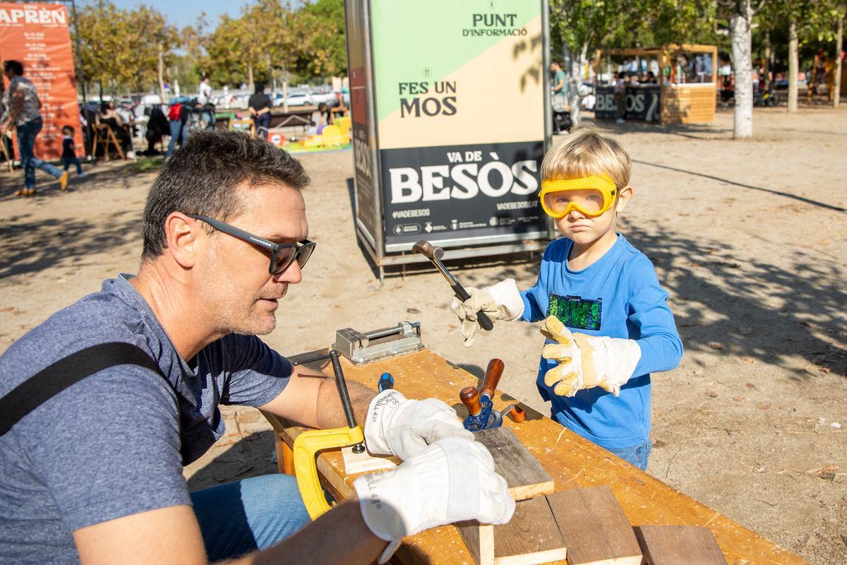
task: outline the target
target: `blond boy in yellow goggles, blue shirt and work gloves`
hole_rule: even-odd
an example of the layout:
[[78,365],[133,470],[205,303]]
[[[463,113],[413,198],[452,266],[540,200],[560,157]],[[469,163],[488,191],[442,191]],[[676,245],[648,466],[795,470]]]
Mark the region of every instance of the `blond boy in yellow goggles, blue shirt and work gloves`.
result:
[[630,168],[606,132],[573,130],[541,164],[541,206],[564,237],[547,246],[538,281],[523,292],[512,279],[468,289],[453,309],[466,345],[479,310],[491,319],[544,319],[536,385],[552,418],[645,470],[650,373],[676,367],[683,345],[653,264],[615,231],[633,196]]

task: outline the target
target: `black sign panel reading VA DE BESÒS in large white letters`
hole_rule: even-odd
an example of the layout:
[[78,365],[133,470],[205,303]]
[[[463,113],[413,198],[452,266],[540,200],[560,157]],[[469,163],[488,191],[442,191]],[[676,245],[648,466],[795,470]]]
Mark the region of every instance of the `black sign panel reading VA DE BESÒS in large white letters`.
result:
[[541,141],[379,154],[386,245],[546,232],[538,201]]

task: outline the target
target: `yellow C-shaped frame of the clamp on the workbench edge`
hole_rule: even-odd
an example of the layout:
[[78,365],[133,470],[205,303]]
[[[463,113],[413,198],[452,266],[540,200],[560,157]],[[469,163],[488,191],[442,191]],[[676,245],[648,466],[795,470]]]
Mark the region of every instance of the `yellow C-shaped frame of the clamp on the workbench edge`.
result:
[[364,441],[362,427],[313,429],[303,432],[294,440],[294,471],[297,487],[309,516],[314,520],[329,510],[324,489],[318,480],[318,451],[334,447],[353,446]]

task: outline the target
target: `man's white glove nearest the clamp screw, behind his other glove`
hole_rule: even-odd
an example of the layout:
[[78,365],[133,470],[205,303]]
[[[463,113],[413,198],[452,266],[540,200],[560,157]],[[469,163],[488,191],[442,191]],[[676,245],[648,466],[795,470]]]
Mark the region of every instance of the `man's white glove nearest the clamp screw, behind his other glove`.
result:
[[473,440],[456,410],[437,398],[408,400],[390,389],[374,397],[365,423],[365,446],[377,455],[396,455],[404,461],[441,438]]

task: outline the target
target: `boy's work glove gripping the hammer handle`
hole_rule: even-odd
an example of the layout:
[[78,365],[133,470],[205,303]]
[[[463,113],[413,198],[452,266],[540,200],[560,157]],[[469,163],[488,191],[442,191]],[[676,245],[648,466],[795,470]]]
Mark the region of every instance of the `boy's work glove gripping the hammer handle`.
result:
[[494,320],[518,319],[523,314],[523,298],[518,291],[514,279],[501,280],[496,285],[486,286],[479,290],[473,286],[465,289],[471,296],[465,302],[453,296],[451,308],[462,322],[462,337],[465,347],[473,346],[476,336],[477,313],[482,310],[493,322]]

